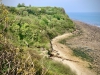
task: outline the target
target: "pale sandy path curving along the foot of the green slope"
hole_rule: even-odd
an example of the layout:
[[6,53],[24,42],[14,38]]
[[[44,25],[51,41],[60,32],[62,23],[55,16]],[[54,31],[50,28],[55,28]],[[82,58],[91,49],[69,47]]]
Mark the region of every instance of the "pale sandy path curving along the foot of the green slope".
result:
[[82,61],[81,59],[73,56],[70,48],[58,42],[59,40],[67,38],[71,35],[71,33],[66,33],[52,39],[54,53],[52,59],[68,65],[73,71],[76,72],[77,75],[96,75],[87,68],[89,64],[88,62]]

